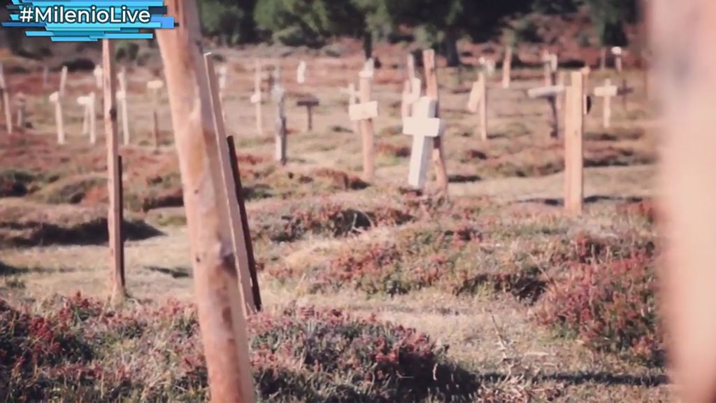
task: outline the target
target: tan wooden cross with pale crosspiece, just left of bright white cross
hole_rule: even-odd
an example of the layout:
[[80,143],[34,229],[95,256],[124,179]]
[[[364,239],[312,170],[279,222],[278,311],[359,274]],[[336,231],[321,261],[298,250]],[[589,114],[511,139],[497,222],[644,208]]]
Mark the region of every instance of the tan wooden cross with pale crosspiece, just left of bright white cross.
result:
[[378,102],[371,101],[373,70],[363,70],[360,77],[360,102],[349,107],[351,121],[360,123],[363,138],[363,176],[371,182],[375,176],[373,118],[378,117]]

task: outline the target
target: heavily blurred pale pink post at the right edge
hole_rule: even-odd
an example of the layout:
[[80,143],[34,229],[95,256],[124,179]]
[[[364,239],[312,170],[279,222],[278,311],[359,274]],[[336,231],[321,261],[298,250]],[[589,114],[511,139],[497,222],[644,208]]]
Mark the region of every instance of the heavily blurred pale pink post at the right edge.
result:
[[716,401],[716,1],[653,0],[669,359],[683,402]]

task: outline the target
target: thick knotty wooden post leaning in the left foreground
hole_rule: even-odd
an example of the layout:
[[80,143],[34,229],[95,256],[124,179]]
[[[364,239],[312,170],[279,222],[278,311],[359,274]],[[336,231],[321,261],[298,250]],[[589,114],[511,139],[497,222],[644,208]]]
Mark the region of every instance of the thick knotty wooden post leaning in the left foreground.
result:
[[[202,344],[214,402],[253,402],[246,316],[195,0],[167,0],[178,27],[156,32],[168,82]],[[222,139],[222,143],[225,140]]]

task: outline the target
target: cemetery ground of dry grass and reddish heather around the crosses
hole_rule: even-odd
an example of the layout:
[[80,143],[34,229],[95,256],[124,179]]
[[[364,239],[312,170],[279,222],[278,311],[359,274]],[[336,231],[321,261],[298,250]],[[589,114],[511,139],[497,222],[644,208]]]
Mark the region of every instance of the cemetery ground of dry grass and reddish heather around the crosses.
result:
[[[226,127],[237,139],[260,266],[264,312],[251,318],[249,335],[262,400],[669,398],[654,295],[657,122],[641,72],[625,73],[635,91],[613,100],[611,128],[602,128],[600,100],[586,117],[586,207],[569,217],[559,205],[563,141],[549,137],[548,103],[526,96],[543,85],[540,67],[515,67],[509,89],[499,71],[489,78],[488,142],[465,110],[476,70],[439,67],[444,200],[430,196],[430,177],[425,196],[405,190],[411,139],[401,133],[397,68],[405,52],[377,49],[372,184],[360,179],[361,140],[339,92],[357,81],[357,55],[306,55],[304,85],[294,74],[299,56],[261,58],[264,71],[281,63],[287,90],[281,166],[266,96],[264,133],[256,133],[253,55],[220,53]],[[10,399],[205,397],[166,94],[155,150],[145,90],[154,77],[127,72],[131,145],[121,153],[131,298],[117,308],[105,303],[104,138],[101,125],[95,146],[80,134],[74,104],[94,89],[92,72],[69,74],[64,146],[47,101],[58,75],[42,90],[42,72],[6,73],[27,96],[32,123],[24,133],[0,129],[0,345],[8,351],[0,366],[12,369],[0,390],[18,391]],[[589,83],[614,75],[595,70]],[[320,105],[306,132],[305,109],[295,104],[309,94]]]

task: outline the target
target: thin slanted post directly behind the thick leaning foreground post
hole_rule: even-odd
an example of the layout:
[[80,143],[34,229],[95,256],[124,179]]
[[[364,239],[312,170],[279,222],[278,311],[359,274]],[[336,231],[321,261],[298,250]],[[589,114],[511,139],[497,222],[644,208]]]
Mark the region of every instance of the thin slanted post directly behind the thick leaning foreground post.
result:
[[231,161],[229,158],[231,153],[226,143],[226,127],[224,125],[223,113],[221,112],[221,100],[219,99],[219,86],[216,80],[216,70],[214,70],[214,61],[211,53],[204,54],[204,63],[206,65],[207,81],[209,83],[209,94],[211,95],[211,108],[214,115],[214,125],[216,128],[216,143],[218,145],[219,168],[221,169],[221,179],[223,184],[219,184],[219,188],[223,187],[222,194],[226,196],[226,205],[223,206],[228,212],[230,220],[231,239],[233,241],[233,255],[236,258],[236,270],[238,271],[238,283],[241,286],[241,295],[243,299],[244,315],[256,313],[257,307],[253,303],[252,286],[251,286],[251,269],[248,260],[248,246],[246,240],[250,239],[248,234],[243,232],[241,225],[241,212],[239,210],[239,200],[236,198],[236,178],[234,177]]

